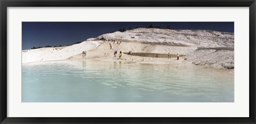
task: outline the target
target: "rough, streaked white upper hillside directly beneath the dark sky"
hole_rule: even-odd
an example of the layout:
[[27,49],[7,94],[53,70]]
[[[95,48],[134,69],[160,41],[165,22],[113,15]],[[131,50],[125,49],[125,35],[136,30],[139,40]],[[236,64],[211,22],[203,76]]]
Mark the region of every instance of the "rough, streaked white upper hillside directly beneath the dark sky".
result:
[[169,30],[137,28],[114,32],[87,40],[116,40],[139,43],[157,43],[191,47],[234,47],[234,33],[210,30]]

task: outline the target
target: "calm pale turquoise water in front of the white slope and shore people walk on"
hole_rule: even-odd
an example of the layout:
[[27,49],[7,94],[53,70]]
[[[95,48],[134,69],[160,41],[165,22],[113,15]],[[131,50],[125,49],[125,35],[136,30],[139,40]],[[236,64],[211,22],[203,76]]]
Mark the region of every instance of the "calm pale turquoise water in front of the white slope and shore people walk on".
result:
[[118,60],[28,63],[22,102],[234,102],[234,75]]

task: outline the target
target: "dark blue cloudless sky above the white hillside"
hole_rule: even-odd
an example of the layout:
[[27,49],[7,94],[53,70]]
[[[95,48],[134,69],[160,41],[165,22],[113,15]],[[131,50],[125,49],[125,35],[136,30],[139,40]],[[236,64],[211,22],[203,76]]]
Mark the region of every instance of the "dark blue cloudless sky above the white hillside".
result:
[[234,22],[22,22],[22,50],[72,45],[111,31],[146,28],[150,24],[171,29],[234,32]]

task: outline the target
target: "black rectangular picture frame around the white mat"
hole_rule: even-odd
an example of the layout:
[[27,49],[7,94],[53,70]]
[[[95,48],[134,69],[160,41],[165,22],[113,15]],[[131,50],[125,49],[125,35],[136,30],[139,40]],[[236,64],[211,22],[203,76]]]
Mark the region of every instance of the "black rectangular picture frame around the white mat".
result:
[[[0,0],[1,6],[1,123],[256,123],[255,121],[255,0]],[[249,118],[10,118],[7,117],[7,7],[250,7]]]

